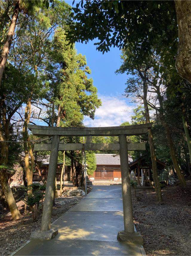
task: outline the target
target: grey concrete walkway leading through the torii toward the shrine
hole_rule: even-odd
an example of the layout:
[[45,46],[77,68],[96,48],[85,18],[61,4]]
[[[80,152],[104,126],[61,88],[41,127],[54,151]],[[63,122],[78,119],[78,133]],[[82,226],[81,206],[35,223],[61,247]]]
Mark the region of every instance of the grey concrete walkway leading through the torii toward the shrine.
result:
[[121,186],[94,186],[53,224],[53,240],[32,240],[15,255],[146,255],[143,246],[118,242],[122,211]]

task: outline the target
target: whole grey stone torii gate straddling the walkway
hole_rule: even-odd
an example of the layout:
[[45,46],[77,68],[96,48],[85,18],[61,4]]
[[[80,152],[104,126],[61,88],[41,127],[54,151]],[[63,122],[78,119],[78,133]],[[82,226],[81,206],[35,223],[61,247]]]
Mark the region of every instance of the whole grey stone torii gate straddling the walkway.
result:
[[[145,143],[127,143],[127,137],[141,135],[151,129],[152,124],[138,124],[117,127],[47,127],[29,125],[28,128],[34,135],[50,136],[52,143],[35,144],[35,151],[50,151],[46,192],[40,230],[31,233],[31,239],[52,239],[58,231],[51,229],[51,216],[55,191],[55,178],[58,161],[58,151],[61,150],[119,150],[121,163],[121,183],[124,213],[124,231],[118,232],[118,240],[143,244],[143,238],[139,232],[134,231],[133,209],[131,198],[130,174],[128,150],[145,150]],[[86,143],[66,144],[60,141],[63,137],[86,136]],[[119,143],[92,143],[92,136],[118,136]]]

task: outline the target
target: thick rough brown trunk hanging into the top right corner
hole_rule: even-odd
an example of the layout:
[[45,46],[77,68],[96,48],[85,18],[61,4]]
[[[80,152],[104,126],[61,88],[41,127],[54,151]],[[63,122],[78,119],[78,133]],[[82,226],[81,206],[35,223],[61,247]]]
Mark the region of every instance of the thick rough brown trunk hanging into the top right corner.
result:
[[175,1],[178,22],[178,55],[176,69],[191,83],[191,1]]

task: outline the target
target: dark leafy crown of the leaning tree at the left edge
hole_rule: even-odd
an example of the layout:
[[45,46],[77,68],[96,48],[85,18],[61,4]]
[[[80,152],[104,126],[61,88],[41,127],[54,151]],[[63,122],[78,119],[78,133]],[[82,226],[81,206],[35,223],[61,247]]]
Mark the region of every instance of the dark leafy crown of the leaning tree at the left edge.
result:
[[[0,88],[0,133],[5,141],[21,139],[16,112],[29,98],[37,97],[41,88],[41,81],[32,72],[23,73],[12,64],[6,64]],[[18,159],[22,144],[11,143],[8,149],[8,165],[11,166]]]

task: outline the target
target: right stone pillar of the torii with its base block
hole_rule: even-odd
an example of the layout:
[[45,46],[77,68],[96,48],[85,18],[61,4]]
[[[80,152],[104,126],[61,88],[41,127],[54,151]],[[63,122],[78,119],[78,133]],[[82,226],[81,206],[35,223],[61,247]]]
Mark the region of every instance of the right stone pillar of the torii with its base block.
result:
[[143,245],[143,238],[141,237],[141,234],[134,230],[126,135],[124,134],[119,135],[119,144],[120,144],[119,154],[120,154],[120,163],[121,163],[124,230],[118,232],[117,239],[121,242],[132,242],[132,243]]

